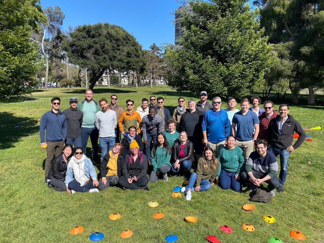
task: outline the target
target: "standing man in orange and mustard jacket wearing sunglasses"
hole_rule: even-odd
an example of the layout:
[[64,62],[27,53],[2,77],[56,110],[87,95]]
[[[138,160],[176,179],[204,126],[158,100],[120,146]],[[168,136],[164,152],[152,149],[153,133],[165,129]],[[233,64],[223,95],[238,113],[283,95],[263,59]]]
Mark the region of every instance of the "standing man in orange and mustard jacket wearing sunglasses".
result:
[[[136,134],[141,133],[142,128],[142,119],[138,112],[134,111],[134,100],[128,99],[126,100],[127,110],[121,113],[121,116],[118,120],[119,130],[123,135],[128,131],[130,126],[136,127]],[[126,132],[125,132],[126,131]]]

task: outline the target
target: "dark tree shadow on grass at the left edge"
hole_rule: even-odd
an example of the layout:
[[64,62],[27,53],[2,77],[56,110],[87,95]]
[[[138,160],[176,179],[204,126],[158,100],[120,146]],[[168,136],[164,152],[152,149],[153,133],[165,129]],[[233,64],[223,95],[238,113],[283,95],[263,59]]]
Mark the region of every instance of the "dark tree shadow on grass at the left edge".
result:
[[[3,127],[1,127],[3,126]],[[19,126],[19,127],[16,127]],[[39,131],[37,120],[29,117],[16,117],[10,112],[0,112],[0,149],[14,147],[22,137],[28,137]]]

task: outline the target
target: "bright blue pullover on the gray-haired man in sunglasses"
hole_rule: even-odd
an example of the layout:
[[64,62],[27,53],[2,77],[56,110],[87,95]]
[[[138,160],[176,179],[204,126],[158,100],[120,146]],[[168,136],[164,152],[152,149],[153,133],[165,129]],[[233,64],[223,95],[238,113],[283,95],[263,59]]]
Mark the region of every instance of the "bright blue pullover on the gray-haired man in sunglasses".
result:
[[[216,115],[218,113],[218,115]],[[203,116],[202,130],[207,131],[207,140],[212,143],[225,141],[230,132],[230,123],[225,110],[207,110]]]

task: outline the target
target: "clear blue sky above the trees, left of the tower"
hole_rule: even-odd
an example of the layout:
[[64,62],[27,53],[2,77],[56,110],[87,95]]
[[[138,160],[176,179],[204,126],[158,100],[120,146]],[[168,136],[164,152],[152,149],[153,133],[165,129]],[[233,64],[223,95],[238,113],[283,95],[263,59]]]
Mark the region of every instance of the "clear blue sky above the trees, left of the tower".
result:
[[171,12],[180,4],[175,0],[41,0],[41,6],[61,7],[65,15],[62,29],[108,22],[132,33],[143,49],[149,49],[152,43],[174,43]]

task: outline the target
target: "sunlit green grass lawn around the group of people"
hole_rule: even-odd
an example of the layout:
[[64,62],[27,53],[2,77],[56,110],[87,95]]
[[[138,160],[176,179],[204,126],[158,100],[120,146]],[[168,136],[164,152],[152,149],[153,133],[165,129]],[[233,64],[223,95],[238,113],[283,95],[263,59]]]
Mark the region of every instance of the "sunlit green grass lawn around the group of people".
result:
[[[95,87],[94,99],[108,99],[113,93],[118,95],[118,104],[124,109],[128,98],[135,101],[136,108],[143,97],[162,96],[171,113],[180,96],[186,101],[192,97],[167,86]],[[165,242],[169,234],[177,235],[177,242],[206,242],[204,237],[208,235],[216,235],[220,242],[268,242],[267,238],[272,236],[285,243],[297,242],[289,236],[291,230],[301,231],[306,236],[305,242],[323,242],[323,131],[307,132],[313,142],[304,142],[291,154],[285,192],[277,193],[271,203],[252,203],[256,209],[251,212],[242,210],[249,203],[248,192],[225,191],[217,185],[206,192],[193,192],[191,201],[185,201],[184,195],[171,197],[172,189],[181,185],[182,177],[149,183],[150,191],[110,188],[100,193],[72,195],[49,189],[43,182],[46,150],[40,148],[38,120],[50,110],[53,96],[61,98],[64,110],[69,107],[69,97],[84,98],[84,88],[40,89],[23,101],[0,104],[0,242],[91,242],[88,237],[95,231],[104,233],[102,242]],[[278,104],[289,103],[289,98],[288,94],[287,101],[274,100],[276,110]],[[306,99],[307,95],[301,95],[301,105],[292,105],[290,114],[303,127],[323,124],[323,95],[316,95],[318,106],[307,106]],[[226,108],[225,102],[222,108]],[[150,208],[147,203],[151,200],[159,206]],[[121,219],[109,220],[113,212],[120,213]],[[156,212],[164,213],[165,217],[154,219],[152,215]],[[276,222],[264,222],[265,214],[272,215]],[[195,216],[198,222],[186,223],[186,216]],[[256,230],[242,230],[243,223],[252,224]],[[76,225],[83,226],[84,233],[70,235],[69,230]],[[233,233],[221,232],[218,229],[221,225],[231,226]],[[125,229],[132,230],[133,236],[121,239],[119,234]]]

